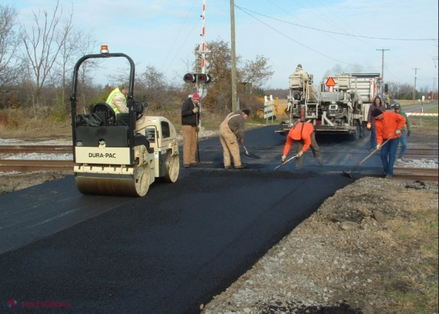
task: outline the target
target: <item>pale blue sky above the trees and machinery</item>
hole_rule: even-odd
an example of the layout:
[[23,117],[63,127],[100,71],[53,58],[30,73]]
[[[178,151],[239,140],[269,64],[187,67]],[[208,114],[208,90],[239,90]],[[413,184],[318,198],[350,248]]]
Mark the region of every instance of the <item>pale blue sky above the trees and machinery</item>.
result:
[[[91,30],[99,45],[134,59],[137,71],[155,66],[171,81],[195,60],[201,44],[203,0],[59,0],[74,25]],[[33,12],[52,12],[55,0],[11,2],[30,25]],[[230,1],[205,0],[206,40],[230,42]],[[275,72],[266,88],[288,88],[302,64],[314,83],[324,76],[381,72],[384,81],[438,86],[437,0],[234,0],[236,54],[263,55]],[[332,32],[332,33],[331,33]],[[385,40],[381,38],[387,38]],[[398,40],[397,40],[398,39]],[[402,39],[402,40],[401,40]],[[435,40],[423,40],[435,39]],[[96,47],[96,53],[98,47]]]

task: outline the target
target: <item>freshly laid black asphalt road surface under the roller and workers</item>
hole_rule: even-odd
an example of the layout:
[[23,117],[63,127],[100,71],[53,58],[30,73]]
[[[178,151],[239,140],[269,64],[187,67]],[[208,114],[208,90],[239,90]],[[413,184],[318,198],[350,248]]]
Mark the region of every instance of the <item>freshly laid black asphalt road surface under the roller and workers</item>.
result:
[[[11,299],[14,313],[30,313],[23,301],[68,302],[72,313],[199,313],[353,182],[341,170],[370,152],[368,137],[318,136],[325,165],[307,152],[300,172],[294,161],[274,171],[285,144],[277,128],[246,132],[260,157],[241,155],[248,170],[224,170],[219,139],[203,140],[198,167],[142,198],[83,195],[73,177],[0,196],[0,313]],[[381,172],[372,156],[354,175]]]

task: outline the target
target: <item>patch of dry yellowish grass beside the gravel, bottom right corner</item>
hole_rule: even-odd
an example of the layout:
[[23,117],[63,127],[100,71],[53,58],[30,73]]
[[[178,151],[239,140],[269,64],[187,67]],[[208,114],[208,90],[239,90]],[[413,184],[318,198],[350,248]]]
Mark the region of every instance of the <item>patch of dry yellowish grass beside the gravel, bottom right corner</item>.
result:
[[435,195],[430,195],[411,208],[411,219],[389,222],[396,245],[405,254],[398,261],[402,269],[389,278],[388,313],[438,313],[438,209],[437,199],[433,205]]

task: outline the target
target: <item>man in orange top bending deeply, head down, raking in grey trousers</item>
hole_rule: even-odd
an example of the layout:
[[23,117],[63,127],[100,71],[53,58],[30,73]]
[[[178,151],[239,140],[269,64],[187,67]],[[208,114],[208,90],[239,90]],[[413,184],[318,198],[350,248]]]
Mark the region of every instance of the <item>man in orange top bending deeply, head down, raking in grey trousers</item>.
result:
[[287,158],[293,141],[297,141],[296,170],[302,168],[303,153],[309,149],[309,146],[311,146],[314,158],[319,161],[319,165],[323,165],[319,145],[317,145],[316,136],[314,135],[314,126],[311,123],[299,122],[290,129],[287,135],[287,142],[283,149],[282,162],[285,162],[285,158]]

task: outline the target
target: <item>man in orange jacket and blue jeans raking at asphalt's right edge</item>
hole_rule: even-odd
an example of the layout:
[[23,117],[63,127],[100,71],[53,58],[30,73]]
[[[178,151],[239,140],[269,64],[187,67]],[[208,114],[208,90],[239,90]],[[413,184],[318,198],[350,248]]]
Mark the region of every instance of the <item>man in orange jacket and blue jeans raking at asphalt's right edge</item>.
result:
[[[401,129],[406,124],[406,118],[396,112],[382,112],[380,109],[372,111],[375,117],[375,132],[377,132],[377,150],[381,151],[381,161],[386,178],[393,176],[393,166],[397,160],[397,150],[401,139]],[[390,139],[387,145],[382,142]]]

